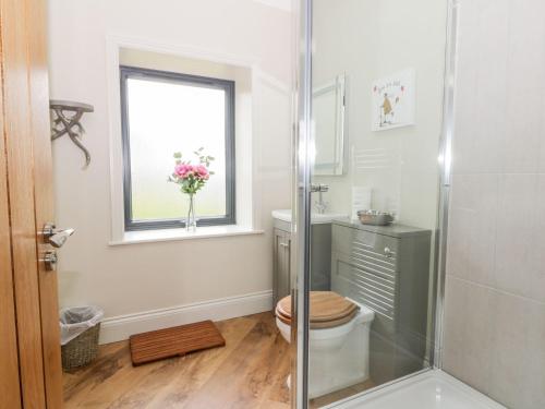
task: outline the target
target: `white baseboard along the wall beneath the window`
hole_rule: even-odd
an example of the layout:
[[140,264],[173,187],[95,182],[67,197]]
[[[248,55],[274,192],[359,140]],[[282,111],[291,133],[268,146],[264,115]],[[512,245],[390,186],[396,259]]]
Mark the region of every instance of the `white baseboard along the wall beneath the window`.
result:
[[168,309],[112,316],[102,321],[100,344],[129,339],[133,334],[211,320],[221,321],[272,310],[272,291],[196,302]]

